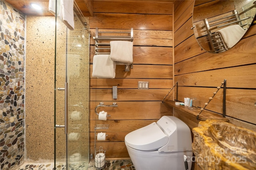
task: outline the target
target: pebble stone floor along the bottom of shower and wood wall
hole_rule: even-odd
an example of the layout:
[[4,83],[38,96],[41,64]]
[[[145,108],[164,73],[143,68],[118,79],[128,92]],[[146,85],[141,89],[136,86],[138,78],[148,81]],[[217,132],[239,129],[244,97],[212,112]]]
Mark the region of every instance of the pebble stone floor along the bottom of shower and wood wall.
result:
[[[94,160],[86,163],[71,164],[68,170],[97,170]],[[87,169],[86,169],[87,168]],[[24,163],[18,170],[66,170],[64,164],[58,164],[54,169],[54,163]],[[131,160],[106,160],[106,166],[102,170],[135,170]]]

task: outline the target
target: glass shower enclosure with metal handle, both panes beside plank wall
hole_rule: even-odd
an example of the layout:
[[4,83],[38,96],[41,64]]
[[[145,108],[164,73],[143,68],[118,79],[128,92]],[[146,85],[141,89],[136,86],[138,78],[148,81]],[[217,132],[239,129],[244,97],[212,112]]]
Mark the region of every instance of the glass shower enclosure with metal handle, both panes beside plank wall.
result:
[[[89,162],[89,26],[74,2],[74,30],[56,16],[54,166]],[[80,167],[80,168],[77,168]],[[81,168],[82,167],[82,168]]]

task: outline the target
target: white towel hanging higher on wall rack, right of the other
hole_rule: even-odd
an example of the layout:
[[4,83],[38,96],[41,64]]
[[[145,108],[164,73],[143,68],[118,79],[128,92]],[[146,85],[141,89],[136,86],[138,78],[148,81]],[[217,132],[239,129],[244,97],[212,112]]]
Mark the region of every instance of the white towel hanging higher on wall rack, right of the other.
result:
[[122,63],[132,63],[133,42],[110,41],[110,59]]

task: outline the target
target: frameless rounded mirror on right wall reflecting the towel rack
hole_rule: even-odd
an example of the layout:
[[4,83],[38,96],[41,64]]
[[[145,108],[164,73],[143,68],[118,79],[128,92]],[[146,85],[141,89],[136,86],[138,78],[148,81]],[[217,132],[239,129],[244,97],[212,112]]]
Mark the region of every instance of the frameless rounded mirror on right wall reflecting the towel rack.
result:
[[256,0],[195,0],[194,35],[210,53],[233,47],[255,21]]

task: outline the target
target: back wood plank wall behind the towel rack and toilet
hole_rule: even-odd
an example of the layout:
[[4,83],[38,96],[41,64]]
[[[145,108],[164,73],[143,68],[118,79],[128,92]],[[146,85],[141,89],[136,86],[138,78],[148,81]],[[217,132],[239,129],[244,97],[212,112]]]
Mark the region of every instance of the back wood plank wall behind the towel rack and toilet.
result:
[[[132,3],[131,3],[132,2]],[[94,127],[108,124],[106,141],[97,141],[106,149],[106,158],[128,158],[124,137],[131,131],[172,115],[172,108],[162,104],[172,88],[172,2],[166,1],[94,1],[90,24],[90,153],[94,153]],[[95,28],[105,31],[134,29],[133,68],[116,66],[116,78],[92,77]],[[138,90],[138,81],[149,82],[149,90]],[[112,99],[112,86],[118,86],[118,98]],[[169,96],[168,96],[169,97]],[[170,95],[172,98],[172,95]],[[100,103],[118,107],[99,107],[111,116],[98,120],[95,107]],[[99,131],[100,132],[100,131]]]

